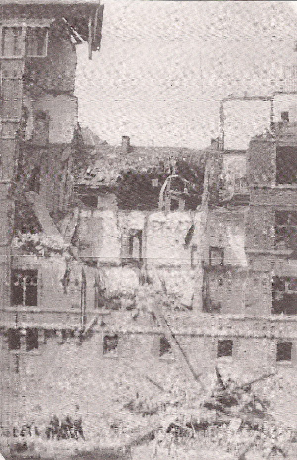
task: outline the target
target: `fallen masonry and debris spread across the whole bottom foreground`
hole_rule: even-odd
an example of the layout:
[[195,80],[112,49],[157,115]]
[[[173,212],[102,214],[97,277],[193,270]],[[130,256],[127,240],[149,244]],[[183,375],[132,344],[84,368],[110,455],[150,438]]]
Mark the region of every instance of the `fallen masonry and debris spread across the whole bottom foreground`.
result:
[[[216,368],[204,391],[170,391],[152,379],[159,396],[117,398],[112,412],[89,415],[97,434],[87,442],[45,440],[42,418],[35,437],[11,437],[2,427],[1,452],[11,459],[296,459],[297,426],[289,426],[252,385],[275,373],[237,384]],[[92,418],[92,420],[91,420]],[[19,420],[18,426],[24,427]],[[87,424],[87,422],[85,422]],[[7,436],[8,435],[8,436]],[[9,436],[10,435],[10,436]],[[215,457],[213,457],[215,456]],[[7,458],[7,457],[6,457]]]

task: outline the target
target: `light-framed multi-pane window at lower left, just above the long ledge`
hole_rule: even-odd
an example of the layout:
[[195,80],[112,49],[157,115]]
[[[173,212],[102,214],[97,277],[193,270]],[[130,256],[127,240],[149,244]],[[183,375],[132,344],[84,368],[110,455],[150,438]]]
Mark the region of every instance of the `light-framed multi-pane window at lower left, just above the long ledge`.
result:
[[12,304],[37,306],[37,270],[12,271]]

